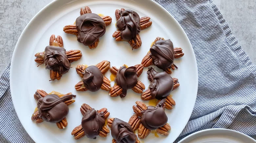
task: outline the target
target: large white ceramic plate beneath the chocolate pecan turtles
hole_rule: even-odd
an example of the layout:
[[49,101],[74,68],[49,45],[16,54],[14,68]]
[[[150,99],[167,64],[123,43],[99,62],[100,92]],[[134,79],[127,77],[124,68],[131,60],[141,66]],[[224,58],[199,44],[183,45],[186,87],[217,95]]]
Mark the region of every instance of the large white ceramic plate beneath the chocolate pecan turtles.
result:
[[[73,24],[79,16],[80,8],[89,6],[94,13],[102,13],[112,17],[113,21],[107,26],[106,33],[100,38],[96,49],[91,50],[87,46],[78,43],[76,37],[63,32],[63,27]],[[150,28],[142,30],[140,37],[142,46],[139,49],[130,47],[128,42],[116,42],[112,34],[116,30],[115,10],[117,8],[132,9],[138,12],[140,17],[150,16],[153,22]],[[73,62],[70,71],[64,74],[59,81],[49,82],[49,70],[45,70],[43,65],[36,67],[34,54],[44,51],[49,44],[52,34],[60,35],[63,38],[64,48],[67,50],[79,49],[82,51],[82,58]],[[32,139],[37,143],[44,142],[111,142],[109,134],[106,138],[98,137],[96,140],[83,137],[75,140],[71,131],[81,123],[82,115],[79,108],[82,103],[87,103],[95,109],[108,108],[110,118],[117,117],[128,121],[133,114],[132,105],[136,101],[141,101],[140,94],[129,90],[124,99],[120,97],[111,98],[108,92],[99,90],[96,93],[90,91],[77,92],[75,84],[81,80],[76,74],[75,67],[78,64],[95,65],[102,60],[109,60],[111,66],[121,66],[127,64],[133,66],[141,62],[142,58],[149,51],[152,41],[156,37],[171,39],[176,47],[182,47],[185,56],[175,59],[175,64],[179,67],[173,72],[172,77],[177,77],[181,86],[171,92],[176,106],[166,113],[168,123],[172,130],[169,136],[155,137],[150,134],[144,142],[154,143],[173,142],[186,125],[196,100],[198,87],[198,73],[195,55],[191,44],[178,22],[160,5],[154,1],[118,1],[118,0],[56,0],[38,12],[22,32],[15,47],[11,60],[11,96],[17,115]],[[144,68],[139,77],[146,87],[149,85]],[[110,76],[110,71],[106,74]],[[114,83],[111,83],[112,86]],[[36,89],[43,89],[46,92],[52,90],[77,95],[76,102],[69,106],[70,112],[67,116],[68,126],[60,130],[55,124],[43,122],[36,124],[31,121],[31,115],[36,107],[33,94]],[[148,102],[145,102],[148,104]]]

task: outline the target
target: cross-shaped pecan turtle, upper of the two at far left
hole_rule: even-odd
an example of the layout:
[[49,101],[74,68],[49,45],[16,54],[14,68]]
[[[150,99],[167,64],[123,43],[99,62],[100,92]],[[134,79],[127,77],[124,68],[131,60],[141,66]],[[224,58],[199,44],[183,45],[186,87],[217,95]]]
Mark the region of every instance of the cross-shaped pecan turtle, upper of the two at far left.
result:
[[44,52],[36,53],[35,57],[36,63],[44,64],[45,69],[50,70],[50,81],[53,81],[60,80],[61,76],[69,71],[70,63],[79,60],[82,53],[80,50],[66,51],[61,36],[55,38],[55,35],[52,35],[49,46],[45,47]]

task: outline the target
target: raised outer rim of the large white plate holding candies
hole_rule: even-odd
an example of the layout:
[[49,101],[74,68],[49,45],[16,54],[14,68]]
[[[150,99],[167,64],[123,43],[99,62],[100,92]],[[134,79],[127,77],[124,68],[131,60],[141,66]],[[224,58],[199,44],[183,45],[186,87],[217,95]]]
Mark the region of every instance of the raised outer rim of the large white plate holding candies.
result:
[[[18,105],[15,104],[16,102],[13,100],[13,99],[14,99],[14,95],[13,95],[12,93],[13,93],[14,87],[11,86],[11,85],[13,85],[13,78],[12,78],[12,75],[13,75],[13,72],[14,72],[14,70],[13,70],[13,69],[14,69],[13,63],[14,63],[14,57],[15,57],[15,55],[17,54],[17,47],[18,47],[19,43],[21,42],[21,37],[23,37],[24,33],[27,32],[28,28],[29,28],[30,25],[33,23],[33,21],[36,19],[36,17],[37,17],[39,14],[41,14],[43,11],[45,11],[46,9],[50,8],[54,3],[57,3],[58,1],[61,1],[61,0],[53,0],[52,2],[50,2],[49,4],[47,4],[45,7],[43,7],[42,9],[40,9],[40,10],[33,16],[33,18],[29,21],[29,23],[28,23],[28,24],[25,26],[25,28],[23,29],[21,35],[19,36],[19,38],[18,38],[18,40],[17,40],[17,43],[16,43],[16,45],[15,45],[15,48],[14,48],[14,50],[13,50],[13,54],[12,54],[12,58],[11,58],[11,66],[10,66],[10,91],[11,91],[11,99],[12,99],[12,103],[13,103],[15,112],[16,112],[17,109],[18,109],[18,107],[17,107]],[[74,0],[74,1],[77,1],[77,0]],[[129,1],[133,1],[133,0],[129,0]],[[71,1],[71,2],[73,2],[73,1]],[[194,103],[194,104],[193,104],[193,108],[192,108],[192,109],[190,110],[190,112],[189,112],[189,115],[190,115],[190,117],[191,117],[192,112],[193,112],[193,109],[194,109],[194,106],[195,106],[195,102],[196,102],[196,99],[197,99],[197,92],[198,92],[198,67],[197,67],[197,61],[196,61],[196,56],[195,56],[194,49],[193,49],[193,47],[192,47],[192,45],[191,45],[191,42],[190,42],[189,38],[188,38],[187,35],[186,35],[186,32],[185,32],[184,29],[181,27],[181,25],[178,23],[178,21],[171,15],[171,13],[168,12],[165,8],[163,8],[160,4],[158,4],[158,3],[155,2],[154,0],[150,0],[149,2],[152,2],[152,3],[155,4],[156,6],[160,7],[161,9],[163,9],[163,11],[165,12],[165,14],[167,14],[168,16],[170,16],[170,17],[172,17],[172,18],[174,19],[174,22],[181,28],[181,30],[183,31],[183,34],[184,34],[184,38],[186,38],[186,40],[189,41],[189,45],[190,45],[190,47],[191,47],[192,50],[193,50],[192,55],[193,55],[193,57],[194,57],[194,59],[195,59],[195,71],[196,71],[196,77],[195,77],[196,81],[195,81],[195,83],[196,83],[196,87],[197,87],[197,88],[195,89],[196,96],[195,96],[194,101],[193,101],[193,103]],[[21,113],[16,112],[16,115],[17,115],[19,121],[21,122],[21,124],[22,124],[22,126],[23,126],[24,122],[21,120],[21,119],[22,119]],[[189,119],[190,119],[190,118],[187,119],[187,122],[189,121]],[[182,130],[185,128],[185,126],[186,126],[186,124],[183,125]],[[23,128],[24,128],[25,131],[27,132],[27,128],[29,128],[29,127],[27,127],[27,126],[24,127],[24,126],[23,126]],[[181,132],[182,132],[182,131],[181,131]],[[38,141],[34,135],[32,135],[32,134],[29,133],[29,132],[27,132],[27,133],[28,133],[28,135],[32,138],[33,141],[35,141],[35,142]],[[178,138],[178,136],[176,137],[176,139],[177,139],[177,138]]]

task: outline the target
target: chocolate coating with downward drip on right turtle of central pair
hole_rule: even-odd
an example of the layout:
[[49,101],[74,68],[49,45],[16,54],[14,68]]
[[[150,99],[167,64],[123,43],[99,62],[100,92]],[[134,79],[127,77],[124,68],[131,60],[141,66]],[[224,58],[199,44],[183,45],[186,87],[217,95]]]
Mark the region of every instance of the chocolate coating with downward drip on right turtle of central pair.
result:
[[120,95],[120,97],[124,98],[127,94],[127,89],[131,89],[138,83],[136,67],[132,66],[132,67],[126,68],[125,66],[122,66],[117,71],[115,82],[117,83],[117,85],[122,87],[123,92]]

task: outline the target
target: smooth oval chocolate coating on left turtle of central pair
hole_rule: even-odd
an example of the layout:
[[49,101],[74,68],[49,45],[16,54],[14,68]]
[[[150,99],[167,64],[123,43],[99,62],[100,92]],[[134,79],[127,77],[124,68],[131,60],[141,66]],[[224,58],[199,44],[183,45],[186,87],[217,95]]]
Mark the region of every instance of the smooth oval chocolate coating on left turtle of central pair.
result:
[[103,74],[96,66],[89,66],[84,71],[84,86],[92,92],[98,91],[103,83]]

